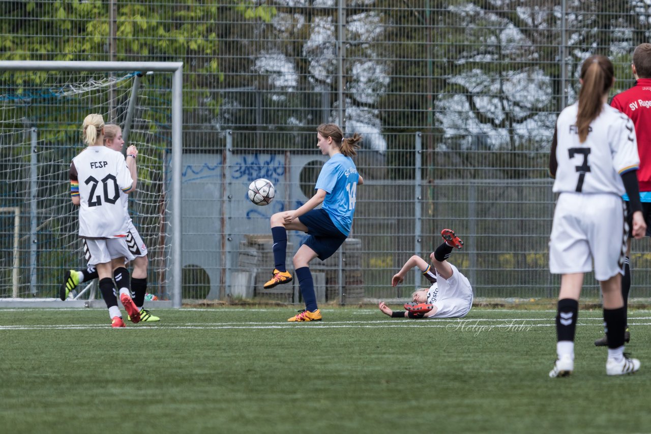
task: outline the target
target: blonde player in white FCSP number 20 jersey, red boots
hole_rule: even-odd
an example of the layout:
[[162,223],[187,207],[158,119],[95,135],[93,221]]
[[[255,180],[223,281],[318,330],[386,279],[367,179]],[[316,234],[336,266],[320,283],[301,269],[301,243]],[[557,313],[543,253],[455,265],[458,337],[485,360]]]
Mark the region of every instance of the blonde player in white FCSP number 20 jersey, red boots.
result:
[[79,206],[79,237],[89,265],[97,269],[100,292],[104,297],[112,327],[124,327],[117,306],[113,278],[120,291],[120,301],[133,323],[140,321],[140,312],[130,295],[126,260],[133,260],[125,238],[128,231],[120,192],[135,188],[124,157],[104,146],[102,115],[88,115],[83,122],[83,137],[88,145],[72,159],[70,165],[70,197]]

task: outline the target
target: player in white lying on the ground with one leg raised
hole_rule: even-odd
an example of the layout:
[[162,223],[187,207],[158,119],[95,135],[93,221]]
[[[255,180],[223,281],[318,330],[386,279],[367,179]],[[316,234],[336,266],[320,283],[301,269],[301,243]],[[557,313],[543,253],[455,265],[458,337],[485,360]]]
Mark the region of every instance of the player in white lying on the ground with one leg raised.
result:
[[396,286],[404,281],[409,270],[419,267],[432,286],[414,292],[411,295],[413,303],[406,304],[406,310],[393,312],[380,301],[378,307],[383,314],[391,318],[463,318],[470,311],[473,288],[467,277],[447,261],[452,249],[461,249],[464,242],[450,229],[443,229],[441,236],[443,243],[430,254],[432,265],[420,256],[411,256],[391,279],[391,285]]

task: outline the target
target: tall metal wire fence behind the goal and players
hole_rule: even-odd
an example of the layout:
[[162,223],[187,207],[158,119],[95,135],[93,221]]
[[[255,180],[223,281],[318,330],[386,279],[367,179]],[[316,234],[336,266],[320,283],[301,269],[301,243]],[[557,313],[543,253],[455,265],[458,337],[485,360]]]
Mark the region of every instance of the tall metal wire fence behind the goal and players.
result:
[[[247,219],[238,213],[245,178],[273,156],[283,169],[273,206],[293,208],[318,170],[308,157],[319,159],[316,126],[335,122],[362,133],[357,165],[368,183],[359,189],[353,228],[359,243],[344,246],[318,277],[326,299],[351,301],[396,295],[393,273],[409,255],[436,248],[443,227],[464,237],[452,261],[478,297],[553,296],[546,164],[555,118],[574,102],[577,68],[589,55],[615,63],[614,93],[632,85],[631,55],[649,39],[651,5],[40,1],[3,2],[0,12],[3,60],[184,62],[183,172],[212,170],[203,180],[184,178],[185,299],[249,295],[256,277],[243,267],[255,258],[260,269],[272,267],[260,259],[264,240],[255,236],[266,233],[265,214],[277,208],[229,226]],[[243,161],[249,169],[238,184],[231,175],[241,165],[229,164]],[[29,204],[20,213],[27,218]],[[14,232],[2,221],[5,249]],[[293,239],[294,248],[299,242]],[[633,243],[631,263],[631,297],[649,297],[645,242]],[[416,277],[400,295],[419,284]],[[159,288],[162,297],[167,292]],[[260,295],[297,301],[290,291]]]

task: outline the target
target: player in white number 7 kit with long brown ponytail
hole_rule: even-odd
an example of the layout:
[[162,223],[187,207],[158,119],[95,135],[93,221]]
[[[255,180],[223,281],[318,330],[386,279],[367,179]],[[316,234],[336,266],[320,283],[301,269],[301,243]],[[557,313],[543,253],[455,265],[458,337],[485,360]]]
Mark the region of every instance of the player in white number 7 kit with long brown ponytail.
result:
[[[607,375],[635,372],[640,362],[624,355],[626,311],[621,292],[628,224],[622,194],[633,212],[633,236],[646,224],[637,185],[637,142],[628,116],[607,105],[615,77],[603,56],[589,57],[581,67],[579,101],[559,115],[549,172],[559,193],[549,237],[549,270],[561,274],[556,316],[557,355],[550,377],[574,370],[574,335],[583,275],[592,271],[603,293],[607,328]],[[617,246],[619,248],[617,248]],[[613,248],[615,247],[615,248]]]

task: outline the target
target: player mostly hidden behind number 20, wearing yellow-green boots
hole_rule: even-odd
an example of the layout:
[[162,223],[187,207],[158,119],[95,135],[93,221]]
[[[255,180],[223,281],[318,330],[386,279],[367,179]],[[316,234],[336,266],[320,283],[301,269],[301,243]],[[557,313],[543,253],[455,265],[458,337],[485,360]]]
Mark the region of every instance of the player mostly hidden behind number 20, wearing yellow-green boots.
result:
[[[117,152],[122,152],[122,146],[124,146],[124,139],[122,139],[122,129],[120,126],[115,124],[107,124],[104,126],[104,145]],[[135,146],[129,146],[126,152],[126,163],[129,169],[129,172],[134,180],[134,186],[137,185],[137,165],[135,163],[136,157],[138,156],[138,150]],[[158,316],[154,316],[146,310],[143,305],[145,303],[145,295],[147,292],[147,247],[145,241],[143,241],[139,232],[136,230],[133,225],[131,216],[129,215],[129,195],[120,192],[120,202],[122,203],[122,209],[124,214],[121,218],[126,219],[127,224],[127,233],[126,233],[126,243],[129,247],[129,251],[135,256],[133,260],[133,271],[131,275],[131,290],[133,303],[140,312],[141,321],[160,321]],[[89,282],[98,278],[97,270],[94,267],[88,267],[85,270],[66,270],[66,273],[63,278],[63,283],[59,288],[59,297],[62,300],[68,298],[70,291],[74,290],[76,286],[81,282]]]

